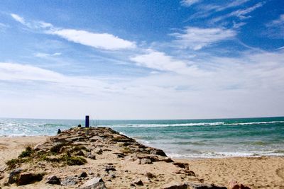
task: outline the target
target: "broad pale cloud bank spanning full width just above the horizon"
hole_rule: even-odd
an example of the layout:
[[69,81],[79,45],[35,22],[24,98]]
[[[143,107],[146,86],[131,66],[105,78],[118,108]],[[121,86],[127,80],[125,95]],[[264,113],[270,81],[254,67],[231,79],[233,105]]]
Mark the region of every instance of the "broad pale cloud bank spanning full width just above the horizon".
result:
[[[151,62],[155,57],[170,66]],[[143,60],[145,67],[162,67],[159,74],[115,80],[112,76],[70,76],[32,65],[0,63],[0,115],[80,118],[87,112],[101,119],[281,115],[283,59],[283,50],[246,52],[238,58],[206,56],[198,62],[203,65],[198,70],[209,70],[210,74],[192,76],[167,71],[187,69],[185,60],[153,52],[136,60]],[[190,63],[197,65],[196,61]]]

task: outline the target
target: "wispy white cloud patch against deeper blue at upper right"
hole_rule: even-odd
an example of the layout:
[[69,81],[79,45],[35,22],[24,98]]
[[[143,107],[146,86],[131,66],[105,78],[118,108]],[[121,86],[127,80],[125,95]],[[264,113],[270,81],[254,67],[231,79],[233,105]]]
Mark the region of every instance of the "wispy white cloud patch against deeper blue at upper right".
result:
[[172,33],[181,48],[190,48],[200,50],[202,47],[212,45],[213,43],[229,40],[236,36],[236,31],[224,28],[194,28],[187,27],[183,33]]

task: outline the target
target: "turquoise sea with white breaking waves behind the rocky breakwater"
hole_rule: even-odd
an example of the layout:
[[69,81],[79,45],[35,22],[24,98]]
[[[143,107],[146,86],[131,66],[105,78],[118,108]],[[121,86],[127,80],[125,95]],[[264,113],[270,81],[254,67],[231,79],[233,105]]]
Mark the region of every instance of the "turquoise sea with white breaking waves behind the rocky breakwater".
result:
[[[54,135],[84,120],[0,118],[0,136]],[[97,120],[178,158],[283,156],[284,117],[212,120]]]

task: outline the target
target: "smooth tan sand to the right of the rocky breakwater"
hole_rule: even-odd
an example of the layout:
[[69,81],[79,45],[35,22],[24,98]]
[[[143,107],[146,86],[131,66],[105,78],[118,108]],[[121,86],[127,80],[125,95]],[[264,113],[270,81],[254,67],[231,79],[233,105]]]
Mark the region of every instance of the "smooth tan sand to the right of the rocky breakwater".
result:
[[198,178],[217,185],[234,180],[251,188],[284,188],[284,157],[181,160]]

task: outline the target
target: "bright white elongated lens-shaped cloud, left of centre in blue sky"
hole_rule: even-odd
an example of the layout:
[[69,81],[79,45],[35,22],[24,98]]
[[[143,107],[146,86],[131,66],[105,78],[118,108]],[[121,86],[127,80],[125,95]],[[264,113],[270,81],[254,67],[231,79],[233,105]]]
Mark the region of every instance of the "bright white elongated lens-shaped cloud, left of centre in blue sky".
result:
[[121,50],[136,47],[134,42],[118,38],[109,33],[90,33],[85,30],[62,29],[50,31],[66,40],[105,50]]

